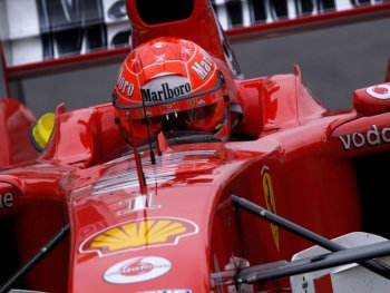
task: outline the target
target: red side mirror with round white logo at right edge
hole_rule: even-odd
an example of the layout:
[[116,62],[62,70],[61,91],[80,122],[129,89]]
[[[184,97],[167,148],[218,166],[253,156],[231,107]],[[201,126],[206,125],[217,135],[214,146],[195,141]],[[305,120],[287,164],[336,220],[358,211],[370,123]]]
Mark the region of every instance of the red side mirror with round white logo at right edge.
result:
[[353,92],[353,108],[363,116],[390,111],[390,82]]

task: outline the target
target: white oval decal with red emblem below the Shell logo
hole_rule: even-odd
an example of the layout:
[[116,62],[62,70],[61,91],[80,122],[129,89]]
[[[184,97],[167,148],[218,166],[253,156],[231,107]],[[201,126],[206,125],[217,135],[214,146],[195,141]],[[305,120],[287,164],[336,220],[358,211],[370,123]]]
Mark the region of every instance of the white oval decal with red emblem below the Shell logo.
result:
[[138,283],[166,274],[170,266],[170,262],[163,257],[134,257],[109,267],[104,274],[104,280],[113,284]]

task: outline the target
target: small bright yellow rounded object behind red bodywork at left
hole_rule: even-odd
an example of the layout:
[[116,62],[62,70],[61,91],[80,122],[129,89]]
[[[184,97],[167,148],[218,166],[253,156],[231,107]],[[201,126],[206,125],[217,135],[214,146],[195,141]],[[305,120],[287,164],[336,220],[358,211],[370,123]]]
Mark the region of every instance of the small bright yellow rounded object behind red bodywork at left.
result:
[[42,152],[48,144],[55,127],[56,114],[43,114],[30,128],[30,140],[38,152]]

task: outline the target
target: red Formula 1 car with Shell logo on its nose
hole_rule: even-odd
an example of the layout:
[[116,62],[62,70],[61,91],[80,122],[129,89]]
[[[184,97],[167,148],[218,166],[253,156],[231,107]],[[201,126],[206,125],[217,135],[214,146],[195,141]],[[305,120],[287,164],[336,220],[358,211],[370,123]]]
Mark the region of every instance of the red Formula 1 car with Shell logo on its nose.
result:
[[31,118],[39,157],[0,172],[0,292],[389,291],[390,82],[330,110],[298,66],[244,79],[208,1],[156,2],[126,1],[131,46],[202,46],[243,110],[231,140],[131,148],[104,104],[59,105],[46,144]]

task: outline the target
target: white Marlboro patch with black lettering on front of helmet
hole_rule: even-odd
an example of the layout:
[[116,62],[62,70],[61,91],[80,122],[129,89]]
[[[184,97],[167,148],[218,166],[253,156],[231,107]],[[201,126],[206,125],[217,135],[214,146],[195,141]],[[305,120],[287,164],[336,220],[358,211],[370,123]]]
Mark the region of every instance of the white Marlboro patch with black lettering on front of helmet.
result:
[[154,102],[183,97],[191,90],[187,78],[166,76],[152,80],[140,89],[140,92],[146,102]]

